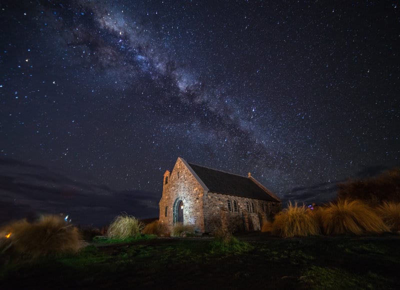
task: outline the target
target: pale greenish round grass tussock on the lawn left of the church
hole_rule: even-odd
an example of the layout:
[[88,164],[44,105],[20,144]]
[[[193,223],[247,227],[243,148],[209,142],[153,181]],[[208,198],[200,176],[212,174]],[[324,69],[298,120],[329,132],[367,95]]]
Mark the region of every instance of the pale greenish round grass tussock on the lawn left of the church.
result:
[[122,214],[115,217],[107,229],[107,236],[110,238],[125,238],[140,235],[144,224],[134,216]]

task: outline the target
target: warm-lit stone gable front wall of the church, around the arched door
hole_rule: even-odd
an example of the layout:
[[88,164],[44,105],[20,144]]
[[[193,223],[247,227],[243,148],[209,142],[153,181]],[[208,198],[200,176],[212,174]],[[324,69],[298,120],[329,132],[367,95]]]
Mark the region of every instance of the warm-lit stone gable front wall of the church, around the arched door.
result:
[[[165,184],[165,176],[168,176]],[[183,202],[183,224],[192,224],[204,232],[202,197],[204,189],[191,174],[183,161],[178,158],[172,172],[164,174],[162,197],[159,202],[159,220],[171,230],[177,222],[177,203]],[[165,207],[167,206],[166,216]]]

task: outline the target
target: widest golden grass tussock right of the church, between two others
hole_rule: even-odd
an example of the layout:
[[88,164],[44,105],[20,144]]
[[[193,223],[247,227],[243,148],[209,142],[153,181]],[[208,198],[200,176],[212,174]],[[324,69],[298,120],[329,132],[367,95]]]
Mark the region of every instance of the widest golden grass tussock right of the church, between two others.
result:
[[382,233],[388,227],[382,219],[361,200],[339,199],[329,202],[322,213],[322,227],[325,234]]

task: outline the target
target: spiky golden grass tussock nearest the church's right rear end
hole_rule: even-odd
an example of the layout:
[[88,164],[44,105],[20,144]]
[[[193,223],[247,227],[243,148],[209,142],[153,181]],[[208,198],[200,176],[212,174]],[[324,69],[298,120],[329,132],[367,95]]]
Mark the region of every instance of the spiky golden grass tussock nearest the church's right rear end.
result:
[[289,202],[289,206],[275,215],[272,233],[283,237],[307,236],[319,234],[319,226],[311,210],[305,205],[298,206]]

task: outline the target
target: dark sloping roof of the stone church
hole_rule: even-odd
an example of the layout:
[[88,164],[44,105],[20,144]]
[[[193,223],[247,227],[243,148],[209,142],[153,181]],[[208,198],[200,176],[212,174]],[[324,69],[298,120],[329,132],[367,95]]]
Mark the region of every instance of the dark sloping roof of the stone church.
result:
[[200,177],[210,192],[249,197],[261,200],[279,201],[269,195],[251,178],[216,169],[190,164],[189,166]]

